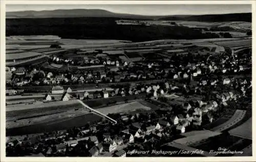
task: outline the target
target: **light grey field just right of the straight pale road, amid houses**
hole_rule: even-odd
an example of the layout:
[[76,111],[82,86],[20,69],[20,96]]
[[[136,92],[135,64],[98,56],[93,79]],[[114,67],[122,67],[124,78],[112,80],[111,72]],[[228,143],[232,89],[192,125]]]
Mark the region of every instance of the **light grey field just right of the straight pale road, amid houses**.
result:
[[129,113],[136,110],[149,111],[151,110],[151,108],[144,106],[138,101],[135,101],[131,103],[118,104],[118,105],[102,107],[100,109],[97,109],[98,112],[103,113],[105,115],[112,114],[112,113]]

